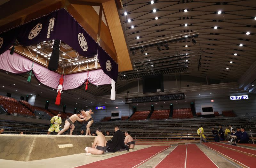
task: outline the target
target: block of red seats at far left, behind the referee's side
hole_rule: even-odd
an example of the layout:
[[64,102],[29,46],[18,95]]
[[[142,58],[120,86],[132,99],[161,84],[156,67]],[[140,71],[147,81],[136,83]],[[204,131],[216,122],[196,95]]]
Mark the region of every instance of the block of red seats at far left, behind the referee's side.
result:
[[18,115],[35,117],[35,114],[33,114],[32,111],[20,104],[20,102],[14,98],[0,96],[0,105],[7,111],[8,114],[17,113]]

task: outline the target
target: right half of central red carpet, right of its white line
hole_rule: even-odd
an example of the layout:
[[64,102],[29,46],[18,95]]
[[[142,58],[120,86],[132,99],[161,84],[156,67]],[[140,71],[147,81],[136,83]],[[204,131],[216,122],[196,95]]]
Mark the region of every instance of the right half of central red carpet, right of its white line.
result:
[[217,168],[196,144],[188,144],[186,168]]

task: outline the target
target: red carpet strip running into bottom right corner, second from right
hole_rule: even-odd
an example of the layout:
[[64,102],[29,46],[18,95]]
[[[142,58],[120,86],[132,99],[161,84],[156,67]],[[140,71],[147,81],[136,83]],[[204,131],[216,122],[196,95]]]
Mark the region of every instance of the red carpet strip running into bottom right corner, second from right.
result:
[[205,146],[212,148],[213,150],[216,150],[216,151],[222,153],[223,155],[226,155],[227,157],[233,159],[235,162],[243,164],[244,166],[255,167],[255,165],[256,165],[255,157],[250,157],[243,153],[236,152],[235,150],[231,150],[228,148],[223,148],[223,147],[218,146],[213,143],[203,143],[203,144]]

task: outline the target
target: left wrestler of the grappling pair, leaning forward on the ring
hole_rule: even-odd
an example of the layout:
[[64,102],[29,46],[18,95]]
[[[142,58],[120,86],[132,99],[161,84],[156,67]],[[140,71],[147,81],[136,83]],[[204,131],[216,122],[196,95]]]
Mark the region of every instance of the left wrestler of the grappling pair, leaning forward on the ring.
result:
[[65,132],[66,130],[68,130],[68,128],[71,126],[71,129],[70,129],[70,134],[69,135],[72,135],[72,132],[73,130],[75,129],[75,125],[74,125],[74,122],[76,121],[84,121],[86,118],[84,119],[80,119],[81,115],[81,112],[80,111],[77,111],[76,114],[73,114],[71,115],[69,118],[67,118],[67,120],[65,121],[65,125],[64,125],[64,128],[60,130],[60,132],[58,133],[58,135],[62,134],[63,132]]

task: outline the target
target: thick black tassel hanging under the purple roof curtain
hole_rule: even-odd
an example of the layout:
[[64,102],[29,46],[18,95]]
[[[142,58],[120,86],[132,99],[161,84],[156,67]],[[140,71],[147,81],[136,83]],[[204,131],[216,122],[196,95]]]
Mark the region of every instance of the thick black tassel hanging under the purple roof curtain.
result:
[[48,69],[51,71],[56,71],[59,67],[60,59],[60,40],[54,40],[52,55],[49,60]]

